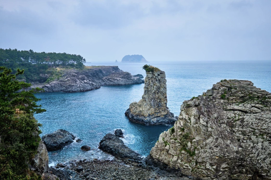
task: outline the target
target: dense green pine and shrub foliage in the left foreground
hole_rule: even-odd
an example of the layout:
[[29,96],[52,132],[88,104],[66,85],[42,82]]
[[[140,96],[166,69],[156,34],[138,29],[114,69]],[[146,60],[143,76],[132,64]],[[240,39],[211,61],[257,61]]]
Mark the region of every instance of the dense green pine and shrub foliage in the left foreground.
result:
[[23,70],[14,75],[0,67],[0,72],[0,179],[37,179],[27,162],[37,153],[41,133],[33,113],[46,111],[34,96],[41,89],[24,91],[31,84],[15,80]]

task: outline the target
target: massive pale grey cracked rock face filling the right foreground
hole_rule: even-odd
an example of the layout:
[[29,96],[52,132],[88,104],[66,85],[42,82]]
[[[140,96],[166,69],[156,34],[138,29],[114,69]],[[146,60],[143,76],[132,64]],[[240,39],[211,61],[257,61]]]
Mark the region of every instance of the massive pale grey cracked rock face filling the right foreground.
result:
[[221,80],[184,101],[148,162],[198,179],[271,179],[271,94]]

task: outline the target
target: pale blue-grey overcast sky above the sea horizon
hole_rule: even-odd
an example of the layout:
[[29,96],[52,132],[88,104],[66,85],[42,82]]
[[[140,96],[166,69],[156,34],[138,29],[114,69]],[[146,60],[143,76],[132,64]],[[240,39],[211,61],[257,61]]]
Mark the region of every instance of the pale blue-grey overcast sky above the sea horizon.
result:
[[0,48],[87,62],[271,61],[271,0],[0,0]]

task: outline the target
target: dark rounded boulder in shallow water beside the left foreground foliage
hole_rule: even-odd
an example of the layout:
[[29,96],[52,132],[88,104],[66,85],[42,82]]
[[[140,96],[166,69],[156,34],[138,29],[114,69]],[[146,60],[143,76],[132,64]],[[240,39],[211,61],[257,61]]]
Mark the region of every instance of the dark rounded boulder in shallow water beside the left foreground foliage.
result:
[[75,136],[70,134],[68,131],[59,129],[53,133],[46,134],[41,137],[46,145],[48,151],[61,149],[66,145],[69,145],[75,139]]

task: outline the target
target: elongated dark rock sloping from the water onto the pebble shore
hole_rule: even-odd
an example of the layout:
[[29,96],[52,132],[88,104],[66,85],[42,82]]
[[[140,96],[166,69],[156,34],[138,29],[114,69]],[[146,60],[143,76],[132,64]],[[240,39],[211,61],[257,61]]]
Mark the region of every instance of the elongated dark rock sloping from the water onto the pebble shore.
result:
[[140,154],[125,146],[120,138],[111,133],[102,138],[99,149],[120,159],[141,160]]

